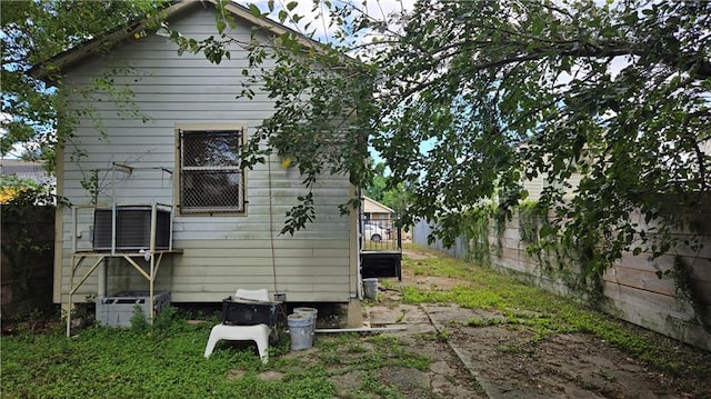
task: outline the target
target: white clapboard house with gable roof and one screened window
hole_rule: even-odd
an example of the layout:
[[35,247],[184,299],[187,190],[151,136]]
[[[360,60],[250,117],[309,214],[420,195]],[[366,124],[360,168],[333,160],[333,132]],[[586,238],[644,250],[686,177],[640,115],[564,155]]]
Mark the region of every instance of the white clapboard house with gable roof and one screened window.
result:
[[[171,29],[196,39],[217,34],[214,3],[170,6]],[[230,34],[242,42],[253,28],[264,40],[288,30],[238,4],[227,10],[237,20]],[[97,56],[107,42],[111,50]],[[302,178],[276,154],[253,170],[237,166],[234,149],[274,108],[266,93],[236,99],[247,52],[236,47],[231,59],[214,64],[177,50],[137,26],[52,60],[71,104],[91,110],[58,153],[58,193],[73,207],[57,213],[53,300],[67,308],[147,290],[151,300],[169,291],[172,302],[219,302],[237,288],[268,288],[288,302],[358,309],[358,216],[338,208],[356,188],[347,176],[324,177],[313,190],[316,221],[293,237],[280,235],[286,211],[303,193]],[[50,69],[33,72],[48,77]],[[106,93],[88,92],[109,74],[132,102],[117,106]],[[360,311],[350,310],[357,320]]]

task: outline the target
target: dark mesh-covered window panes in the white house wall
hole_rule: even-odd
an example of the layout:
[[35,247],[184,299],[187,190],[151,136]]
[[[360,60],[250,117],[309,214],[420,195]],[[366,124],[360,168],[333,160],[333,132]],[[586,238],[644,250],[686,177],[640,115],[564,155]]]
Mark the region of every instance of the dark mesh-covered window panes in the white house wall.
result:
[[241,212],[244,177],[239,150],[243,129],[180,130],[180,211]]

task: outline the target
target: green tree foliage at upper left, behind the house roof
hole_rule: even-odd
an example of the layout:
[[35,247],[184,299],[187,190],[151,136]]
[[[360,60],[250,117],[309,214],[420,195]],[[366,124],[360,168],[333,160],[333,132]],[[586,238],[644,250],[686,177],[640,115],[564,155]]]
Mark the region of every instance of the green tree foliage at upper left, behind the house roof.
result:
[[[9,1],[2,4],[2,119],[4,134],[0,153],[22,144],[26,157],[41,157],[53,167],[54,147],[71,136],[76,116],[67,113],[67,103],[50,84],[29,74],[32,68],[58,53],[107,30],[128,28],[137,19],[153,13],[163,1]],[[44,79],[61,82],[61,71],[44,64]],[[119,93],[110,77],[98,79],[88,91]],[[89,110],[80,110],[88,112]],[[61,117],[61,118],[60,118]]]

